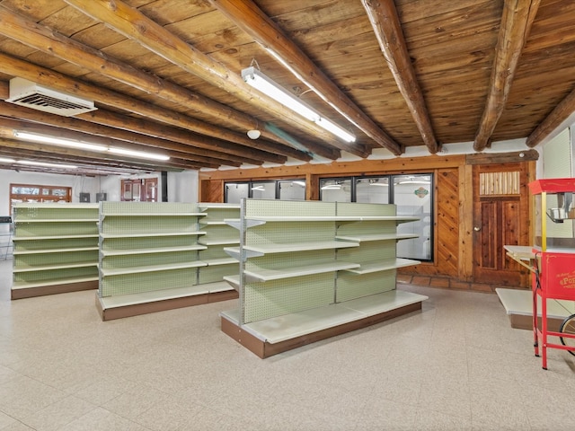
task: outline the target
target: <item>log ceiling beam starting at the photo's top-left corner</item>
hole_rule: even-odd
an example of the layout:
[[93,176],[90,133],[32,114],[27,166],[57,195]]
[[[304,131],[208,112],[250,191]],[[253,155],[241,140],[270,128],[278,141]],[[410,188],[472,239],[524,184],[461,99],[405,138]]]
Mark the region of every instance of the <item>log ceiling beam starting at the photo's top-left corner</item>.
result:
[[[243,112],[234,110],[217,101],[173,84],[158,76],[148,74],[136,67],[113,58],[106,53],[91,48],[48,27],[33,22],[22,15],[8,11],[0,5],[0,33],[13,40],[18,40],[32,48],[61,58],[76,66],[84,67],[93,73],[109,76],[127,84],[154,94],[167,101],[179,103],[189,110],[208,114],[214,119],[225,121],[246,131],[257,128],[262,121]],[[201,132],[199,132],[201,133]],[[210,136],[218,137],[217,131],[210,129]],[[261,136],[285,144],[278,136],[261,128]]]

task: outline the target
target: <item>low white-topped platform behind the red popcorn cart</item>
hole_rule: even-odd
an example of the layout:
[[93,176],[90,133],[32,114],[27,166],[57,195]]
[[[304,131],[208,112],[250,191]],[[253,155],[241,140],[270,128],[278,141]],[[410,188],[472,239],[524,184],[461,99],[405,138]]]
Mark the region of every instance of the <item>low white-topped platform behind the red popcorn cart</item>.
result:
[[[533,330],[533,291],[497,288],[495,292],[505,308],[511,328]],[[537,298],[537,321],[541,327],[541,297]],[[567,316],[575,312],[573,301],[547,300],[547,325],[549,330],[558,331]]]

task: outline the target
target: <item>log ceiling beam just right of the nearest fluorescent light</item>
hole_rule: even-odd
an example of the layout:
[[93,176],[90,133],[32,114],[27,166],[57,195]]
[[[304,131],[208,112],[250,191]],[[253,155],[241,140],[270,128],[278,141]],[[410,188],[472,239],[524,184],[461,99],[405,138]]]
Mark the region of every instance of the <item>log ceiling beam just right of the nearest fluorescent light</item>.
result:
[[217,10],[224,13],[253,40],[263,48],[274,52],[281,58],[282,65],[296,75],[305,85],[312,89],[323,101],[337,110],[345,119],[359,128],[373,139],[377,145],[382,146],[395,155],[403,153],[401,145],[379,128],[376,123],[367,117],[367,114],[342,92],[305,53],[290,40],[257,4],[252,0],[237,2],[234,0],[210,0]]

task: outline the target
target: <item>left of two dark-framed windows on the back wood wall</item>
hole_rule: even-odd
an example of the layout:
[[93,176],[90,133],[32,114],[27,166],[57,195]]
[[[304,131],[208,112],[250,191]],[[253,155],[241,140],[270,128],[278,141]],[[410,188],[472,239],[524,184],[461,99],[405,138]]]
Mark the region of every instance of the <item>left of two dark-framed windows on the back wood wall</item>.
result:
[[237,204],[242,198],[305,200],[305,180],[226,182],[225,201]]

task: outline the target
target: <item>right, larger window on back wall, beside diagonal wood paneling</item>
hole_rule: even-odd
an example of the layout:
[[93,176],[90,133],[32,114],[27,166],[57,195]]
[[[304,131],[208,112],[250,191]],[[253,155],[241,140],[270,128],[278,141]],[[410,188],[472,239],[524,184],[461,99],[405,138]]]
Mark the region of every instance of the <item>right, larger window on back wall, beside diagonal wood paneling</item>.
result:
[[433,174],[382,175],[320,180],[320,198],[327,202],[395,204],[398,216],[417,216],[417,222],[398,224],[398,233],[419,235],[397,242],[397,256],[433,259]]

